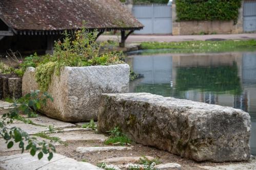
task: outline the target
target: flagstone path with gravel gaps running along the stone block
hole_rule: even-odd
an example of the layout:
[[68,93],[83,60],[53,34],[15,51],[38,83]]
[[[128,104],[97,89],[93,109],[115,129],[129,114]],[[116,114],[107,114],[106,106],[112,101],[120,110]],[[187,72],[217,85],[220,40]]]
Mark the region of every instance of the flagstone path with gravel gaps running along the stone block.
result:
[[[0,101],[0,115],[8,112],[11,104]],[[14,120],[8,127],[19,127],[30,135],[45,133],[50,137],[58,137],[60,142],[53,141],[56,146],[56,153],[51,161],[47,155],[41,160],[37,156],[32,157],[27,151],[21,154],[18,144],[15,143],[11,149],[7,149],[7,143],[0,137],[0,169],[103,169],[96,165],[102,163],[113,163],[114,160],[122,160],[121,164],[139,163],[142,156],[148,158],[159,158],[161,164],[156,165],[157,169],[185,169],[185,170],[249,170],[256,169],[255,159],[242,163],[210,163],[194,162],[183,159],[179,156],[160,151],[155,148],[146,147],[142,144],[131,143],[127,146],[106,145],[104,141],[108,136],[97,133],[96,130],[82,128],[84,123],[71,124],[53,118],[39,115],[35,118],[28,118],[33,124],[25,124]],[[50,129],[49,129],[50,128]],[[49,139],[37,137],[37,140]],[[65,144],[64,144],[65,143]],[[26,145],[26,143],[25,143]],[[120,161],[115,162],[116,164]],[[116,168],[118,169],[118,168]],[[120,169],[120,168],[119,168]],[[124,166],[122,169],[126,169]]]

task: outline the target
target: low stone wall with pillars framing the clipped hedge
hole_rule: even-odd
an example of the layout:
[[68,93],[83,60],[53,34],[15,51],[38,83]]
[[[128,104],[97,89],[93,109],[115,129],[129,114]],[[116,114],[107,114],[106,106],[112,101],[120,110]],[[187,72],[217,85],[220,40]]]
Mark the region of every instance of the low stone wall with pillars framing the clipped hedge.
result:
[[172,35],[192,34],[239,34],[243,33],[243,2],[239,10],[238,22],[233,21],[176,21],[176,4],[172,2]]

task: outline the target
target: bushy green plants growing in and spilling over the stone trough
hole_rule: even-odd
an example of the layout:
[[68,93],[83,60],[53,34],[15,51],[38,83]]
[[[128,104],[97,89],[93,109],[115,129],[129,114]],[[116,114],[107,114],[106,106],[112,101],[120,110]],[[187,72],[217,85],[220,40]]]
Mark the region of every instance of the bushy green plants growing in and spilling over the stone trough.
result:
[[102,43],[97,43],[96,31],[82,29],[74,35],[64,33],[64,40],[55,42],[53,55],[42,59],[36,67],[35,78],[40,89],[47,90],[51,76],[60,76],[64,66],[82,67],[91,65],[112,65],[123,63],[122,52],[101,52]]

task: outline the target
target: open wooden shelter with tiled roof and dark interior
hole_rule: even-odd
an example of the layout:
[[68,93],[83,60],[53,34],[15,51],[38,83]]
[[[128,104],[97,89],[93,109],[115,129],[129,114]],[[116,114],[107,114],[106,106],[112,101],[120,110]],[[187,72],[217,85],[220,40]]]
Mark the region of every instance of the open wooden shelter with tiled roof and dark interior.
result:
[[1,0],[0,51],[52,50],[65,30],[81,29],[84,21],[98,36],[120,30],[121,46],[134,30],[143,29],[119,0]]

